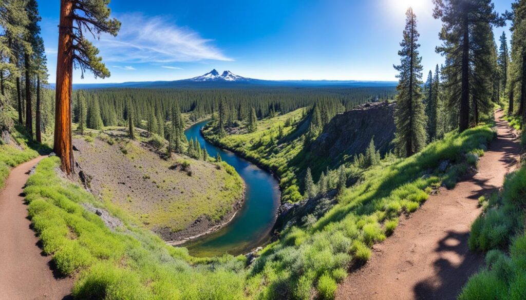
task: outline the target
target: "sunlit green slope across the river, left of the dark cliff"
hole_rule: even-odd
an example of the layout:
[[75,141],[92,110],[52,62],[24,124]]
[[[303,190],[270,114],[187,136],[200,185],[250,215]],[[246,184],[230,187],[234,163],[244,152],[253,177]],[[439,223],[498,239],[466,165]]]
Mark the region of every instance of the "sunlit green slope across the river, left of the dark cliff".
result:
[[[303,110],[298,109],[283,116],[260,120],[258,129],[254,133],[219,138],[213,126],[207,126],[203,133],[207,139],[221,147],[235,151],[275,172],[280,178],[282,201],[297,202],[303,197],[299,192],[295,172],[302,169],[301,157],[304,155],[302,152],[304,145],[301,138],[293,138],[279,145],[277,141],[279,127],[282,127],[284,140],[287,139],[287,136],[294,135],[296,129],[302,124],[300,121]],[[285,126],[287,120],[291,120],[288,127]],[[271,137],[275,140],[274,144],[271,143]]]

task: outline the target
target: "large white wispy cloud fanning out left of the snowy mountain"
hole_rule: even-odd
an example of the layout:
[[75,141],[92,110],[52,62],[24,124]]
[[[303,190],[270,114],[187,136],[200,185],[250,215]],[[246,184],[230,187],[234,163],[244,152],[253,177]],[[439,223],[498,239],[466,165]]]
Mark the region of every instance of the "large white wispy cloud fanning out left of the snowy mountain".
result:
[[122,22],[118,36],[103,36],[96,42],[106,61],[166,64],[232,60],[212,44],[213,40],[189,28],[178,27],[168,18],[131,14],[118,19]]

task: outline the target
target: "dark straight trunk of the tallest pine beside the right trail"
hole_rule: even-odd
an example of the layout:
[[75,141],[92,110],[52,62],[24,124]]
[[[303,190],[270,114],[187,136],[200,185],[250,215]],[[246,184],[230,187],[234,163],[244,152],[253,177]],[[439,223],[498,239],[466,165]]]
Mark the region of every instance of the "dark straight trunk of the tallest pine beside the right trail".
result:
[[469,128],[469,20],[464,15],[464,37],[462,41],[462,94],[460,98],[459,131]]

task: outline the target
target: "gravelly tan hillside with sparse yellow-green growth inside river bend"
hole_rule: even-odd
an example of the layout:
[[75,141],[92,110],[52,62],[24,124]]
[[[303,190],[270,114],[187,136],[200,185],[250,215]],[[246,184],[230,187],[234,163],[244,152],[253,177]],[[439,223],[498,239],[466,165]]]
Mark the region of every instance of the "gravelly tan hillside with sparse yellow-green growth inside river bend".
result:
[[[143,132],[144,133],[144,132]],[[224,224],[240,208],[244,183],[224,163],[198,161],[129,140],[125,131],[76,136],[76,160],[86,187],[166,241]]]

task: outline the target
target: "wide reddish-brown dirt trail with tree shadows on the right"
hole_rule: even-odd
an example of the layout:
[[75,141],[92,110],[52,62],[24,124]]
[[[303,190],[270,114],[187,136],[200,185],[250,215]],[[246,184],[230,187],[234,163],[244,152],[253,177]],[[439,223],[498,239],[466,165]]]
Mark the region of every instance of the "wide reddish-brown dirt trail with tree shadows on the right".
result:
[[468,250],[471,223],[481,213],[477,199],[502,186],[518,160],[519,142],[496,113],[498,138],[479,162],[479,172],[451,191],[442,189],[385,242],[367,265],[351,273],[337,299],[456,299],[483,255]]

